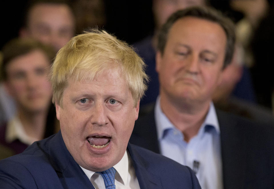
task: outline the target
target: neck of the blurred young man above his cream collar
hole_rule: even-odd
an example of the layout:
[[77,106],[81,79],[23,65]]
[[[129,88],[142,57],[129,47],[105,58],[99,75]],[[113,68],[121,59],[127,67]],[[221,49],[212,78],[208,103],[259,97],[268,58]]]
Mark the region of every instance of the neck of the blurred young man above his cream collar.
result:
[[28,136],[37,140],[44,138],[47,110],[37,112],[21,110],[18,112],[18,115]]

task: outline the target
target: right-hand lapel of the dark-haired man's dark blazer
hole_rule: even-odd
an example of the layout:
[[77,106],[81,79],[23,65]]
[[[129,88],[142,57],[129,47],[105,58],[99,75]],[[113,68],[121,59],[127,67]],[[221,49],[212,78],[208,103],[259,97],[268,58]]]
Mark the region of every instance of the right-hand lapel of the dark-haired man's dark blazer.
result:
[[244,187],[246,170],[246,140],[237,117],[216,110],[221,133],[221,157],[224,189]]

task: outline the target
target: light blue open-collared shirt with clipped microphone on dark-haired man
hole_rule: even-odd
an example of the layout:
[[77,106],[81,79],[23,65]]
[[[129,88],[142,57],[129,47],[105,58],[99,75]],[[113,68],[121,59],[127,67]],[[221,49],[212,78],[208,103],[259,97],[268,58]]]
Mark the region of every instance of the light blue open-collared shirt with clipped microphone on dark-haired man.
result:
[[213,103],[198,134],[188,143],[162,112],[160,97],[156,101],[155,120],[161,154],[192,168],[202,189],[222,189],[220,129]]

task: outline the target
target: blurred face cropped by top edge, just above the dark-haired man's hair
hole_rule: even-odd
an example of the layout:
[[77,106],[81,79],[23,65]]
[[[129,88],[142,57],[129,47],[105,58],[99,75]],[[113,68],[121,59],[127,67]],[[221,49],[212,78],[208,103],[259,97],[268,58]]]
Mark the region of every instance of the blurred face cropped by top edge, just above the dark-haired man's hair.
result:
[[205,4],[205,0],[154,0],[153,12],[156,27],[160,28],[172,13],[180,9]]

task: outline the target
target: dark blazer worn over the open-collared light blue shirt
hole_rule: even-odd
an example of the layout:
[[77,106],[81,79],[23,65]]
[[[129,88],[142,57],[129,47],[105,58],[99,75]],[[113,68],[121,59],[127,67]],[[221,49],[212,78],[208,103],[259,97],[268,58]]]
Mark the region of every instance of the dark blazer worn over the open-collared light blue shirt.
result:
[[[221,133],[224,189],[274,188],[274,129],[217,112]],[[154,109],[135,122],[130,143],[160,153]]]

